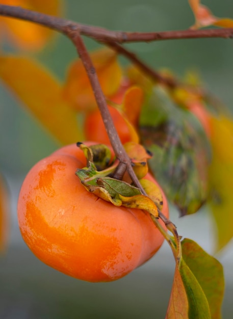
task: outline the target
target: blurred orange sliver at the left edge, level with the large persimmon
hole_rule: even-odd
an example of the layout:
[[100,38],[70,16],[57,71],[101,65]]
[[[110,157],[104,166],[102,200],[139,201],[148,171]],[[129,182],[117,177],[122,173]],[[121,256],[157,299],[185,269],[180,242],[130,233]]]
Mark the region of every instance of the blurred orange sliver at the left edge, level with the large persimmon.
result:
[[0,176],[0,253],[4,251],[8,234],[8,198],[7,191]]

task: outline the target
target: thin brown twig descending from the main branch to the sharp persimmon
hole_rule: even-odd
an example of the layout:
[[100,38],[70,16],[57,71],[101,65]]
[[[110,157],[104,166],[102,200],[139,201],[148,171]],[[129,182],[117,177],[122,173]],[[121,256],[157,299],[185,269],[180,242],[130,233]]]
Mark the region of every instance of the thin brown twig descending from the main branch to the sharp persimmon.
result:
[[[77,52],[80,56],[80,59],[83,62],[83,65],[86,69],[87,75],[89,77],[93,93],[95,95],[95,99],[99,108],[99,111],[101,113],[103,123],[105,124],[105,128],[107,130],[111,145],[113,147],[114,153],[116,157],[120,161],[120,168],[121,168],[121,174],[123,176],[123,173],[125,172],[125,169],[127,169],[128,174],[130,175],[132,181],[134,184],[141,190],[142,194],[145,195],[145,191],[141,187],[141,184],[137,178],[137,176],[134,173],[134,170],[131,165],[131,160],[128,157],[127,153],[125,152],[123,145],[121,144],[120,138],[117,134],[116,128],[114,126],[112,117],[110,115],[108,105],[106,102],[105,95],[102,92],[102,89],[99,84],[99,80],[94,68],[94,65],[91,61],[90,55],[85,47],[85,44],[80,36],[79,33],[76,33],[74,37],[70,38],[72,42],[74,43]],[[122,166],[125,166],[122,170]],[[121,177],[122,177],[121,176]]]

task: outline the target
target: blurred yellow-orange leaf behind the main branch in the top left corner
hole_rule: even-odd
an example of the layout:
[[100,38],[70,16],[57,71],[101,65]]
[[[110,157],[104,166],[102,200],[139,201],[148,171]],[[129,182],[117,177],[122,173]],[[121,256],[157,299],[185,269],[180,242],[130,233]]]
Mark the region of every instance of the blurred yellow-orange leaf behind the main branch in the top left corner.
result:
[[[55,16],[61,15],[61,4],[59,0],[2,0],[1,4],[19,6]],[[0,28],[5,29],[7,36],[16,46],[27,50],[41,49],[51,35],[54,34],[52,30],[36,23],[20,21],[9,17],[0,18]]]

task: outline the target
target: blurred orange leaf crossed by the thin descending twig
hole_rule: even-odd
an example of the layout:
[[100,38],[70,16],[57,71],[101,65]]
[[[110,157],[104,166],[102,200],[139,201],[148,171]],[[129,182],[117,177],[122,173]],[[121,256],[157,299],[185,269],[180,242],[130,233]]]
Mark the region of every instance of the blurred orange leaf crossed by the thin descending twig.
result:
[[[122,79],[122,71],[117,55],[105,48],[91,54],[100,86],[107,97],[117,93]],[[89,78],[80,59],[75,60],[68,69],[63,94],[75,110],[90,111],[96,108],[94,94]]]

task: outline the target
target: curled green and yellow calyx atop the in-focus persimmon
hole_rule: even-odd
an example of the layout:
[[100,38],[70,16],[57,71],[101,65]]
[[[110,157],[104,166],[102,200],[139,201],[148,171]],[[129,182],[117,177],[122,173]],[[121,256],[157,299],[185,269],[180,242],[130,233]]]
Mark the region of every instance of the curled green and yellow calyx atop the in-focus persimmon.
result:
[[[116,169],[115,163],[105,170],[97,171],[92,147],[87,147],[79,143],[77,146],[81,146],[81,149],[84,150],[84,154],[87,158],[87,167],[77,169],[75,174],[79,177],[88,192],[95,194],[105,201],[111,202],[115,206],[143,209],[158,218],[158,207],[150,197],[142,195],[139,188],[123,180],[108,176]],[[104,163],[105,161],[102,160],[100,154],[105,155],[105,152],[101,150],[101,147],[102,145],[96,147],[99,156],[97,156],[97,153],[95,155],[100,163]],[[106,146],[104,146],[104,148],[106,148]],[[109,157],[107,156],[107,158]],[[102,165],[102,167],[104,167],[104,165]]]

